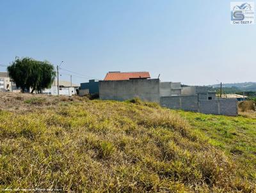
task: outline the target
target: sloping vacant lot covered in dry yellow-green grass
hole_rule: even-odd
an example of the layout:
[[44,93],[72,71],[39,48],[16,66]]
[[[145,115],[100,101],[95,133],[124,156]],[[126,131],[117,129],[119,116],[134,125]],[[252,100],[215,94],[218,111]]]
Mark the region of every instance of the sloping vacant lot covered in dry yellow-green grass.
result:
[[0,189],[253,192],[253,118],[1,93]]

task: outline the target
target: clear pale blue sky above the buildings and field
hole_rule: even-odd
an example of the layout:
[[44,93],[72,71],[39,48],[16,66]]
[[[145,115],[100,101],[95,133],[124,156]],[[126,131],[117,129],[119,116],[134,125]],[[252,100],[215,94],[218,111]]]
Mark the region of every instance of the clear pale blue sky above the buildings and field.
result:
[[63,61],[60,79],[74,83],[109,71],[189,85],[256,82],[255,45],[256,24],[231,25],[226,0],[0,1],[0,65],[16,56]]

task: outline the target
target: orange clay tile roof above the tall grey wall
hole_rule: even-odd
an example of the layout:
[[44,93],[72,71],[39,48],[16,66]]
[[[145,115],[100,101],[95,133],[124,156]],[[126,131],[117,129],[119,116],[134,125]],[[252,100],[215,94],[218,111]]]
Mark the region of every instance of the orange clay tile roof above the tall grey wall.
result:
[[125,81],[129,79],[149,79],[149,72],[108,72],[104,81]]

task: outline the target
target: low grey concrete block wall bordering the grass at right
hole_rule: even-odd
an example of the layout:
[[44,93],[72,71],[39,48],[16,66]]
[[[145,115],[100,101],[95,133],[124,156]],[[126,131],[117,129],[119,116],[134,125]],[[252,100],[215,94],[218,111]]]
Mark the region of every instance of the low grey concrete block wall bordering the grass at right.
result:
[[205,114],[222,114],[237,116],[237,100],[233,98],[199,100],[197,95],[189,96],[163,96],[160,104],[170,109],[181,109],[184,111],[202,112]]

